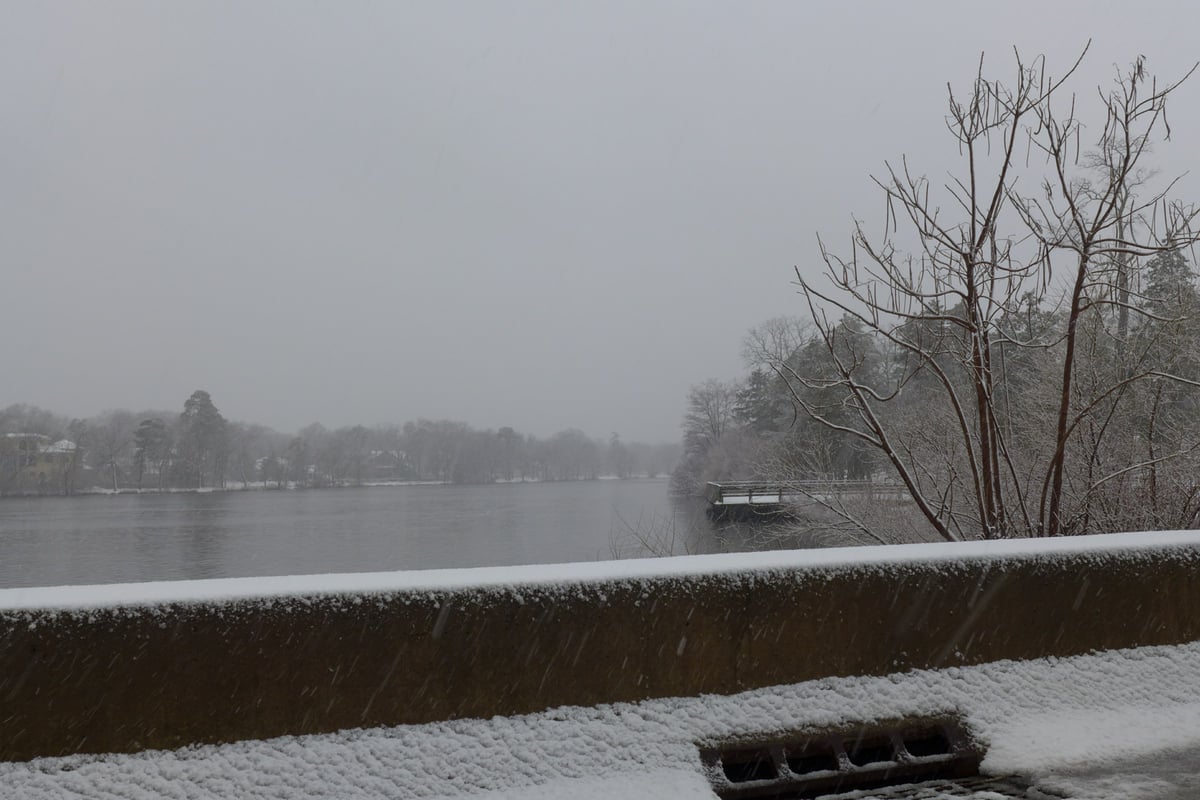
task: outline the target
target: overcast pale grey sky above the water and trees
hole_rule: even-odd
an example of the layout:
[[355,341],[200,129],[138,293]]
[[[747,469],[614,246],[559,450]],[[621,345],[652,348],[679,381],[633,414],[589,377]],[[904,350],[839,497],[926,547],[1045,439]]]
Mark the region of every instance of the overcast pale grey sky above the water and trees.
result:
[[[1200,58],[1189,4],[0,1],[0,405],[677,437],[946,82]],[[1195,167],[1200,77],[1156,151]],[[1194,181],[1184,184],[1187,190]],[[1193,194],[1193,197],[1200,196]]]

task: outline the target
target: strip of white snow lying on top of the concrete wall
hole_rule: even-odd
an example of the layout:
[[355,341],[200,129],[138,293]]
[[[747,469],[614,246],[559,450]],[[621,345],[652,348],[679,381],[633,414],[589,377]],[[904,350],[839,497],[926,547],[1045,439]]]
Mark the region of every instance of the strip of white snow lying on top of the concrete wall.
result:
[[317,597],[506,587],[554,587],[626,581],[772,575],[796,571],[960,564],[979,560],[1061,557],[1146,557],[1163,549],[1200,554],[1200,531],[1104,534],[1061,539],[883,545],[805,551],[720,553],[624,561],[535,564],[458,570],[269,576],[208,581],[160,581],[76,587],[0,589],[0,613],[37,609],[112,608],[166,603],[211,603],[264,597]]

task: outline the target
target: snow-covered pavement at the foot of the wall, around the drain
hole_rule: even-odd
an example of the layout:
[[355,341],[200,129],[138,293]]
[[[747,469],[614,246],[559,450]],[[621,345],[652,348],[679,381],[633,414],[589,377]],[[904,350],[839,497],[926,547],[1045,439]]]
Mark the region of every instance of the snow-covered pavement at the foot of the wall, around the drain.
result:
[[710,799],[704,744],[947,714],[986,748],[983,772],[1024,776],[1051,796],[1200,796],[1200,643],[7,763],[0,796]]

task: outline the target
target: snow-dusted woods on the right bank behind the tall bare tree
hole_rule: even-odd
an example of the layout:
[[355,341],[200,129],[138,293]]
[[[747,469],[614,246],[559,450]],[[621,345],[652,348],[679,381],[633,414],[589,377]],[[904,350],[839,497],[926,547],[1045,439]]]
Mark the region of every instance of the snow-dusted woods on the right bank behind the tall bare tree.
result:
[[[1200,528],[1200,281],[1182,251],[1145,259],[1134,277],[1129,302],[1097,302],[1078,323],[1068,417],[1069,303],[1014,297],[983,333],[961,301],[907,317],[767,320],[744,342],[744,378],[691,387],[673,489],[884,481],[922,497],[906,506],[922,536],[1048,536],[1061,458],[1054,535]],[[1060,426],[1070,434],[1061,452]],[[864,541],[919,539],[892,506],[818,500],[845,529],[870,531]]]

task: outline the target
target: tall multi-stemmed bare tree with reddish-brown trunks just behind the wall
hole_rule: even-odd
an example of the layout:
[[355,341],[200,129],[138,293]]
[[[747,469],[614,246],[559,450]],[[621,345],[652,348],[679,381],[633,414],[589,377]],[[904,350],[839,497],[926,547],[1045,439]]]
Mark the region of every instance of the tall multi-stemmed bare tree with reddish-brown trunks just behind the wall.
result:
[[[1078,65],[1055,79],[1043,59],[1016,54],[1006,84],[986,79],[980,59],[965,96],[949,90],[961,174],[937,188],[907,161],[888,164],[875,179],[882,236],[856,222],[848,255],[821,242],[832,288],[797,271],[827,369],[790,377],[836,392],[848,414],[834,417],[805,392],[797,404],[878,451],[946,540],[1084,531],[1067,470],[1102,445],[1084,423],[1139,381],[1176,379],[1145,361],[1104,380],[1080,373],[1114,309],[1118,326],[1128,325],[1122,309],[1145,313],[1130,301],[1129,271],[1195,240],[1195,212],[1169,197],[1174,181],[1145,198],[1130,191],[1152,139],[1169,134],[1166,101],[1180,82],[1159,86],[1139,59],[1099,92],[1102,132],[1087,143],[1064,89]],[[1091,151],[1104,169],[1087,169]],[[1034,314],[1054,324],[1022,325]],[[847,320],[887,348],[889,371],[868,372],[862,345],[842,333]],[[1028,396],[1007,379],[1008,362],[1022,359],[1052,363]]]

